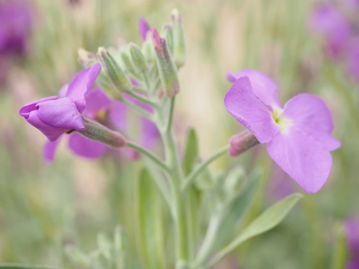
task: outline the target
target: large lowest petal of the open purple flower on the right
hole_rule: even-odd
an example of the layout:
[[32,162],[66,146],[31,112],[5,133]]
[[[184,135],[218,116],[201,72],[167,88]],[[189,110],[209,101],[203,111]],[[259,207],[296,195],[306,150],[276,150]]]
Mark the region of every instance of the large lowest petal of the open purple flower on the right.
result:
[[267,144],[268,154],[307,193],[325,184],[332,167],[332,156],[308,134],[291,128],[278,133]]

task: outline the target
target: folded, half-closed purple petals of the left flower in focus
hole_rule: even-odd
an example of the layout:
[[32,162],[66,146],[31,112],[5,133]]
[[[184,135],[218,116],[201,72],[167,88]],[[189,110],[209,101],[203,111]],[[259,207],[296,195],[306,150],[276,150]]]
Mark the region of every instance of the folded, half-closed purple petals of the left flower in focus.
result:
[[70,130],[83,130],[85,95],[95,83],[100,71],[100,64],[81,70],[70,84],[61,89],[62,96],[51,96],[27,103],[21,107],[20,116],[45,134],[51,142]]

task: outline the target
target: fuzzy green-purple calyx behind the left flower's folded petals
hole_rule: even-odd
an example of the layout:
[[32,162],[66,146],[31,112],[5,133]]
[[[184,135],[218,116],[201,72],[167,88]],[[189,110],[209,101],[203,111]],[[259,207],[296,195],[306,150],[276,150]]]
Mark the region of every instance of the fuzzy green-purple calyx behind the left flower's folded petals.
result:
[[112,131],[106,126],[83,117],[84,130],[76,130],[88,139],[101,142],[111,148],[121,148],[126,145],[126,138],[119,132]]

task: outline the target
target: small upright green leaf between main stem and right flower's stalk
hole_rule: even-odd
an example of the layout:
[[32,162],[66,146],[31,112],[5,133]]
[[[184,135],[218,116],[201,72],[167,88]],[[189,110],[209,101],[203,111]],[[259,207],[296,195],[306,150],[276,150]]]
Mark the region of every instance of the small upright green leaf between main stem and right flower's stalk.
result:
[[196,131],[190,127],[185,139],[183,155],[183,172],[185,176],[192,171],[198,161],[198,138]]

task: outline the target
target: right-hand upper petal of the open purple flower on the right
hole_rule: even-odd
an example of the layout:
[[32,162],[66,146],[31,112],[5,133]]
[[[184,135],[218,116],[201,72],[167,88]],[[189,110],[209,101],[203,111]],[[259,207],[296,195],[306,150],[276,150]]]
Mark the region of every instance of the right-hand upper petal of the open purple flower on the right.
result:
[[329,108],[318,96],[302,93],[289,100],[283,111],[294,127],[313,137],[327,151],[334,151],[341,142],[331,135],[333,120]]

